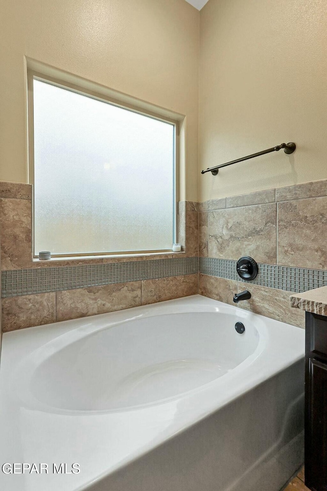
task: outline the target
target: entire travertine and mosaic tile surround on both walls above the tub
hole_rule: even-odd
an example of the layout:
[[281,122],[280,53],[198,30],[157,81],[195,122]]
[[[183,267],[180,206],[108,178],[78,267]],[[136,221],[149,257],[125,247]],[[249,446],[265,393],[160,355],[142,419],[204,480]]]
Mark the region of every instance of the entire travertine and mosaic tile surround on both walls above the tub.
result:
[[[239,291],[248,287],[252,294],[255,292],[255,298],[241,308],[276,319],[284,317],[301,325],[301,319],[294,317],[295,309],[291,314],[287,310],[285,299],[290,292],[327,284],[327,244],[321,233],[327,216],[327,180],[204,203],[180,202],[178,240],[185,251],[181,256],[109,256],[32,262],[31,196],[30,185],[0,183],[5,329],[43,323],[37,316],[43,308],[38,302],[44,295],[57,296],[57,300],[60,297],[66,313],[76,311],[73,316],[99,313],[101,308],[109,308],[109,303],[110,308],[122,308],[120,305],[128,302],[120,303],[117,293],[116,305],[107,303],[102,288],[117,287],[118,292],[121,289],[124,292],[126,285],[133,282],[141,283],[144,304],[198,291],[229,303],[235,284]],[[259,276],[247,285],[236,274],[236,259],[243,255],[259,261]],[[83,289],[89,292],[82,294]],[[83,295],[87,299],[86,310],[79,300]],[[271,303],[270,297],[278,302]],[[21,318],[19,324],[15,317]],[[46,318],[52,319],[51,315]]]

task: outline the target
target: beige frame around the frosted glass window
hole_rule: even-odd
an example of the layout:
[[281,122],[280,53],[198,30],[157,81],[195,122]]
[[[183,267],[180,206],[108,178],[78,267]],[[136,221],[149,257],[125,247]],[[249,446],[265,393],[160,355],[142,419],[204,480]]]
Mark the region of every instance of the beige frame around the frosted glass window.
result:
[[[75,78],[75,77],[74,77]],[[95,99],[101,102],[105,102],[107,104],[111,104],[114,106],[121,107],[123,109],[127,109],[132,111],[133,113],[137,113],[143,116],[150,117],[152,119],[156,119],[165,123],[170,123],[174,127],[174,155],[173,155],[173,174],[174,174],[174,183],[173,183],[173,243],[178,242],[178,231],[177,231],[177,225],[178,225],[178,199],[179,199],[179,135],[180,135],[180,124],[181,121],[177,119],[173,119],[168,117],[166,114],[162,115],[156,112],[153,112],[151,110],[148,110],[148,108],[142,107],[143,101],[136,100],[134,98],[131,98],[128,96],[128,99],[132,99],[135,101],[135,104],[131,104],[130,102],[126,102],[125,100],[122,101],[120,99],[123,99],[123,97],[120,98],[121,94],[112,91],[110,93],[114,93],[116,97],[112,97],[110,95],[106,95],[103,93],[103,87],[99,85],[99,88],[101,87],[101,92],[94,91],[92,89],[84,87],[83,83],[81,85],[78,85],[76,83],[71,83],[66,80],[62,80],[60,78],[56,78],[50,75],[45,75],[42,74],[41,72],[35,71],[28,69],[27,71],[27,104],[28,104],[28,171],[29,171],[29,184],[32,184],[33,188],[33,196],[32,196],[32,257],[33,259],[38,259],[38,255],[35,254],[35,249],[34,249],[34,244],[35,244],[35,215],[34,215],[34,93],[33,93],[33,82],[34,79],[39,80],[44,83],[49,83],[51,85],[54,85],[59,88],[63,88],[64,90],[68,90],[71,92],[75,92],[77,94],[83,95],[85,97],[89,97],[91,99]],[[83,80],[81,79],[83,82]],[[94,85],[92,83],[92,85]],[[148,106],[149,104],[144,102],[143,103],[145,106]],[[167,113],[169,111],[162,109],[162,113]],[[172,244],[173,248],[173,244]],[[137,256],[137,255],[153,255],[153,254],[172,254],[173,250],[172,249],[161,249],[161,250],[145,250],[145,251],[114,251],[114,252],[89,252],[89,253],[77,253],[77,254],[52,254],[52,258],[83,258],[83,257],[122,257],[122,256]]]

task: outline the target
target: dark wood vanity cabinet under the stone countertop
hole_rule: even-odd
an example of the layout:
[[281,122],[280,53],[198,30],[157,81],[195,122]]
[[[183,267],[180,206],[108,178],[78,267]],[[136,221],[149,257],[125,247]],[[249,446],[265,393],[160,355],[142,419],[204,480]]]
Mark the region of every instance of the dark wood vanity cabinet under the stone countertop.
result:
[[306,312],[305,484],[327,491],[327,317]]

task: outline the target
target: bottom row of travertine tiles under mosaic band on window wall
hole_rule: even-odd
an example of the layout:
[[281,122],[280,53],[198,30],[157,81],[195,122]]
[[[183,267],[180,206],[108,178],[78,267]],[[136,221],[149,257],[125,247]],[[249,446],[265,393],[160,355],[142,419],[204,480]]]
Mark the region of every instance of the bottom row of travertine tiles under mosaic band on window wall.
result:
[[198,293],[198,273],[2,299],[3,331],[105,314]]

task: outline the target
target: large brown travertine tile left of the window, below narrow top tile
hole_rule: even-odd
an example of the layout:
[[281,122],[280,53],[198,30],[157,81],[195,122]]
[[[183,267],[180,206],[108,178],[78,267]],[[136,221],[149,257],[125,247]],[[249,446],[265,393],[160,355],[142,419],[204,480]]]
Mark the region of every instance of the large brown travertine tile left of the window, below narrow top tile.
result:
[[1,268],[24,269],[32,265],[32,202],[0,199]]

